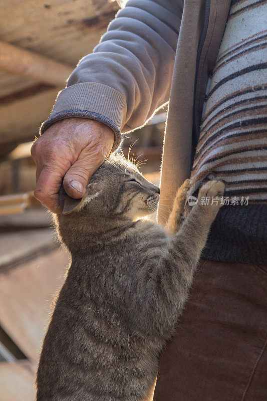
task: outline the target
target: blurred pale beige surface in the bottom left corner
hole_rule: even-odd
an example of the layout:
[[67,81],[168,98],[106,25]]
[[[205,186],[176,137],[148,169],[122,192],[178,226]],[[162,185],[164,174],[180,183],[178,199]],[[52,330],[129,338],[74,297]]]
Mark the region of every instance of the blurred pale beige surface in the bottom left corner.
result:
[[29,361],[0,363],[1,401],[34,401],[34,381],[34,368]]

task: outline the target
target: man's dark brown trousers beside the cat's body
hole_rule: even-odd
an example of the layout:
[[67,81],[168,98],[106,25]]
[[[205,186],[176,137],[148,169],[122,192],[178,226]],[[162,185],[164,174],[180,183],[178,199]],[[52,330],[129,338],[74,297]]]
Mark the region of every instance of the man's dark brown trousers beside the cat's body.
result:
[[202,260],[153,401],[266,401],[266,294],[266,267]]

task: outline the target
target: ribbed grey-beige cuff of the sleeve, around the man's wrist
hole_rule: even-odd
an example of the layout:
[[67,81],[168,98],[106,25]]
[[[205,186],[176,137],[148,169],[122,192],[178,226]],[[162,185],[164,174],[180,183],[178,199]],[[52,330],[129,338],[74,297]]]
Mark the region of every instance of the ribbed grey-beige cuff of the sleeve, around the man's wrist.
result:
[[121,143],[126,101],[115,89],[97,82],[75,84],[59,92],[50,117],[40,128],[42,134],[50,125],[64,118],[81,117],[103,122],[114,132],[114,152]]

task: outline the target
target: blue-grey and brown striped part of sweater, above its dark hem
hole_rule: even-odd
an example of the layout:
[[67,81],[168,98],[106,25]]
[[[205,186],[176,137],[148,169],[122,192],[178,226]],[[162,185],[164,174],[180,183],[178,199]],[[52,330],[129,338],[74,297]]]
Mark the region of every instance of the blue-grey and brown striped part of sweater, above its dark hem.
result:
[[267,202],[266,1],[232,1],[200,127],[191,192],[225,181],[225,196]]

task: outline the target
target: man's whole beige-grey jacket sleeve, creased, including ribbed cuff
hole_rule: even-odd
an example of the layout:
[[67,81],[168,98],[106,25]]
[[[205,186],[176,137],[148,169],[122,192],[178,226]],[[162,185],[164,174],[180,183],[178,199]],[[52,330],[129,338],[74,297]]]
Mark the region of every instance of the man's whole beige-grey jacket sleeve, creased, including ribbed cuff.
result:
[[70,75],[43,133],[69,117],[95,119],[115,133],[142,126],[169,99],[182,0],[129,0],[92,54]]

